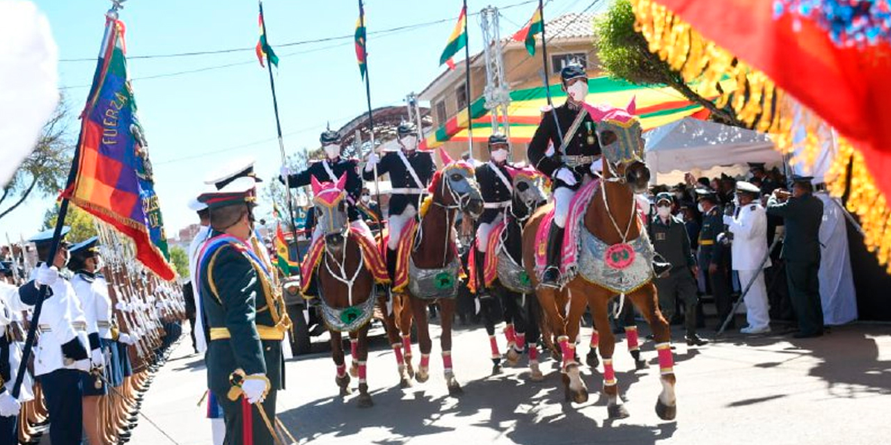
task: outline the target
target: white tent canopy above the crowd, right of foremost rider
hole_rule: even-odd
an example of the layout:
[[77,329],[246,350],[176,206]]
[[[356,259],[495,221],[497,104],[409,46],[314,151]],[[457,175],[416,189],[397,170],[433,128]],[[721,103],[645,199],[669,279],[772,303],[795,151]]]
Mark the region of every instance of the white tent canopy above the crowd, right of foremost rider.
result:
[[748,162],[781,166],[782,156],[764,134],[684,117],[643,135],[647,166],[654,183],[683,182],[683,174],[741,175]]

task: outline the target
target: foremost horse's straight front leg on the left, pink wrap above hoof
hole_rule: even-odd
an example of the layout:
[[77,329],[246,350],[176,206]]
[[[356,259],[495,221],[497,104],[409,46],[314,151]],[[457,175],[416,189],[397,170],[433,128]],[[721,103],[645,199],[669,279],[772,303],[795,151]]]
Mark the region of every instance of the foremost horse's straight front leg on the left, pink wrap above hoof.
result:
[[594,328],[598,328],[600,334],[598,346],[603,359],[603,393],[607,396],[607,413],[611,419],[628,417],[628,411],[618,396],[616,370],[612,363],[613,352],[616,352],[616,335],[609,327],[610,295],[600,287],[593,288],[596,290],[588,295],[588,300]]

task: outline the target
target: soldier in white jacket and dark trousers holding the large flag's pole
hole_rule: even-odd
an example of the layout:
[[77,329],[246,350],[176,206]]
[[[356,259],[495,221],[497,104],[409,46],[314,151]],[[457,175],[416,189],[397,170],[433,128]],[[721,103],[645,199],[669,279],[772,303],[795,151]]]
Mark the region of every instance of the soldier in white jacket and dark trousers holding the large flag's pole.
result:
[[[62,229],[62,236],[69,232]],[[61,270],[68,264],[68,243],[60,240],[54,258],[49,258],[53,230],[38,233],[29,241],[37,246],[37,259]],[[39,267],[39,266],[38,266]],[[38,271],[38,279],[39,279]],[[53,296],[46,298],[37,322],[40,339],[35,347],[34,375],[43,389],[46,409],[52,419],[53,445],[80,444],[83,436],[83,390],[81,376],[91,368],[86,317],[68,279],[50,285]]]

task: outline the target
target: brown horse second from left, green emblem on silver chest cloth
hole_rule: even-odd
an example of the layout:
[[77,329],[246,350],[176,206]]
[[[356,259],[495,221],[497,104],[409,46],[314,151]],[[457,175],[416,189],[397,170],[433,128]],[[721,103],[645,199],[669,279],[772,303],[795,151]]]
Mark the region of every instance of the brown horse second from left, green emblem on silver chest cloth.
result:
[[421,205],[421,219],[407,226],[403,233],[400,244],[409,244],[398,249],[393,292],[408,295],[418,328],[421,362],[414,375],[418,383],[429,379],[432,342],[427,306],[435,301],[439,303],[443,368],[449,394],[454,396],[462,392],[452,368],[452,322],[461,271],[461,259],[455,247],[454,220],[458,211],[478,218],[483,212],[483,199],[469,163],[452,160],[444,150],[439,150],[439,157],[443,168],[430,182],[430,195]]

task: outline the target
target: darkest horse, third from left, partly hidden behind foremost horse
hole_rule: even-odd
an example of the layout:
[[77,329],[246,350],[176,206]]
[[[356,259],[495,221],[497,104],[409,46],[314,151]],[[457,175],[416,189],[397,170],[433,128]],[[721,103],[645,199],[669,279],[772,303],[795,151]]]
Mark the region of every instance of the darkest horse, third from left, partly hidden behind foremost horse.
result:
[[[541,176],[531,167],[509,168],[511,174],[512,196],[511,205],[505,211],[503,230],[498,231],[493,240],[495,244],[486,249],[487,255],[495,255],[491,259],[493,267],[487,264],[486,277],[483,278],[486,287],[493,288],[493,297],[497,297],[503,308],[503,317],[506,327],[504,335],[508,345],[505,359],[509,366],[516,366],[519,357],[528,346],[529,375],[533,381],[544,379],[538,366],[538,339],[541,330],[538,328],[538,301],[534,295],[535,289],[531,286],[527,271],[523,268],[521,253],[523,225],[536,208],[546,202],[538,178]],[[489,242],[488,239],[480,239],[478,242]],[[492,271],[494,276],[489,276]],[[488,282],[494,279],[493,282]],[[489,286],[491,284],[491,286]],[[501,354],[498,352],[498,344],[495,340],[495,307],[498,306],[495,298],[489,297],[480,302],[483,312],[483,320],[486,332],[489,335],[489,344],[492,350],[493,374],[501,370]]]

